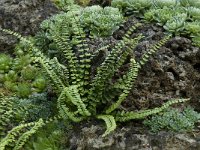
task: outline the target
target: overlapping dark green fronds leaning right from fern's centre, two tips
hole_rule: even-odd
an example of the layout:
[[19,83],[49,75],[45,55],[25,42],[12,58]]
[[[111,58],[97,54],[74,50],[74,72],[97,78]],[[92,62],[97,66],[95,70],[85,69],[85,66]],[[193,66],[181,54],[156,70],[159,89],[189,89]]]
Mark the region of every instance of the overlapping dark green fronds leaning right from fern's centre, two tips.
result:
[[[142,35],[134,39],[130,39],[131,33],[140,24],[136,24],[130,30],[127,31],[125,37],[115,45],[112,51],[108,54],[104,62],[97,68],[97,74],[92,80],[89,93],[89,106],[95,108],[100,102],[105,103],[102,99],[104,89],[107,86],[107,82],[112,78],[114,73],[122,66],[127,56],[131,53],[132,49],[138,44],[138,41],[142,38]],[[131,46],[130,46],[131,45]]]

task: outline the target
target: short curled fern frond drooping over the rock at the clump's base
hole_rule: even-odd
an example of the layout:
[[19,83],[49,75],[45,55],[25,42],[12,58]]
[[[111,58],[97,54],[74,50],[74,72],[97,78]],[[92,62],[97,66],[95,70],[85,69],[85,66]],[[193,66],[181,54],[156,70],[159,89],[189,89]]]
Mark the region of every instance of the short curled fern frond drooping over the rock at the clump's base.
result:
[[117,127],[115,118],[111,115],[98,115],[98,119],[103,119],[106,123],[106,131],[102,135],[102,137],[105,137],[106,135],[110,134],[110,132],[114,131]]

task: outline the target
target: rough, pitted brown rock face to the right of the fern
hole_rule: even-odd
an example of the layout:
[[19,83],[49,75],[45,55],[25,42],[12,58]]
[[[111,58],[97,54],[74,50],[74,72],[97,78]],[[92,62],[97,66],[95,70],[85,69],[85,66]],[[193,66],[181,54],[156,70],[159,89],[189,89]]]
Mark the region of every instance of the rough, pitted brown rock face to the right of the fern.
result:
[[[125,27],[130,25],[131,22],[128,22]],[[155,25],[147,24],[140,27],[134,34],[138,33],[143,33],[145,38],[134,50],[136,59],[161,39],[163,30]],[[200,48],[194,47],[190,39],[174,37],[143,66],[129,95],[129,100],[123,105],[130,107],[131,110],[144,109],[160,106],[173,98],[190,97],[190,104],[200,110],[199,91]]]

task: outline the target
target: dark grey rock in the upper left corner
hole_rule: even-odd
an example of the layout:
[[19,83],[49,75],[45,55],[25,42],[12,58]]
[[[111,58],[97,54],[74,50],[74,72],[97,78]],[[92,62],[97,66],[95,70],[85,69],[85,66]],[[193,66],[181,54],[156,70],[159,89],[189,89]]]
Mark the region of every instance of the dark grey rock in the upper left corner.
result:
[[[0,27],[34,35],[42,20],[57,12],[50,0],[0,0]],[[9,50],[16,38],[0,33],[0,51]]]

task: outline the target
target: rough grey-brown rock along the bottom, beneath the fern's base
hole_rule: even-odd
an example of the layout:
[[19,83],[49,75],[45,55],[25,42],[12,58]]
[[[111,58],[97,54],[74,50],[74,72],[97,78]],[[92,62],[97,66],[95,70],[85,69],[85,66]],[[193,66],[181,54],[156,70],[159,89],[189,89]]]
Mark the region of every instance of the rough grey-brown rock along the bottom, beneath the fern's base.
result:
[[198,133],[173,134],[160,132],[149,134],[133,124],[120,127],[105,138],[101,137],[103,127],[80,125],[70,136],[70,150],[199,150]]

